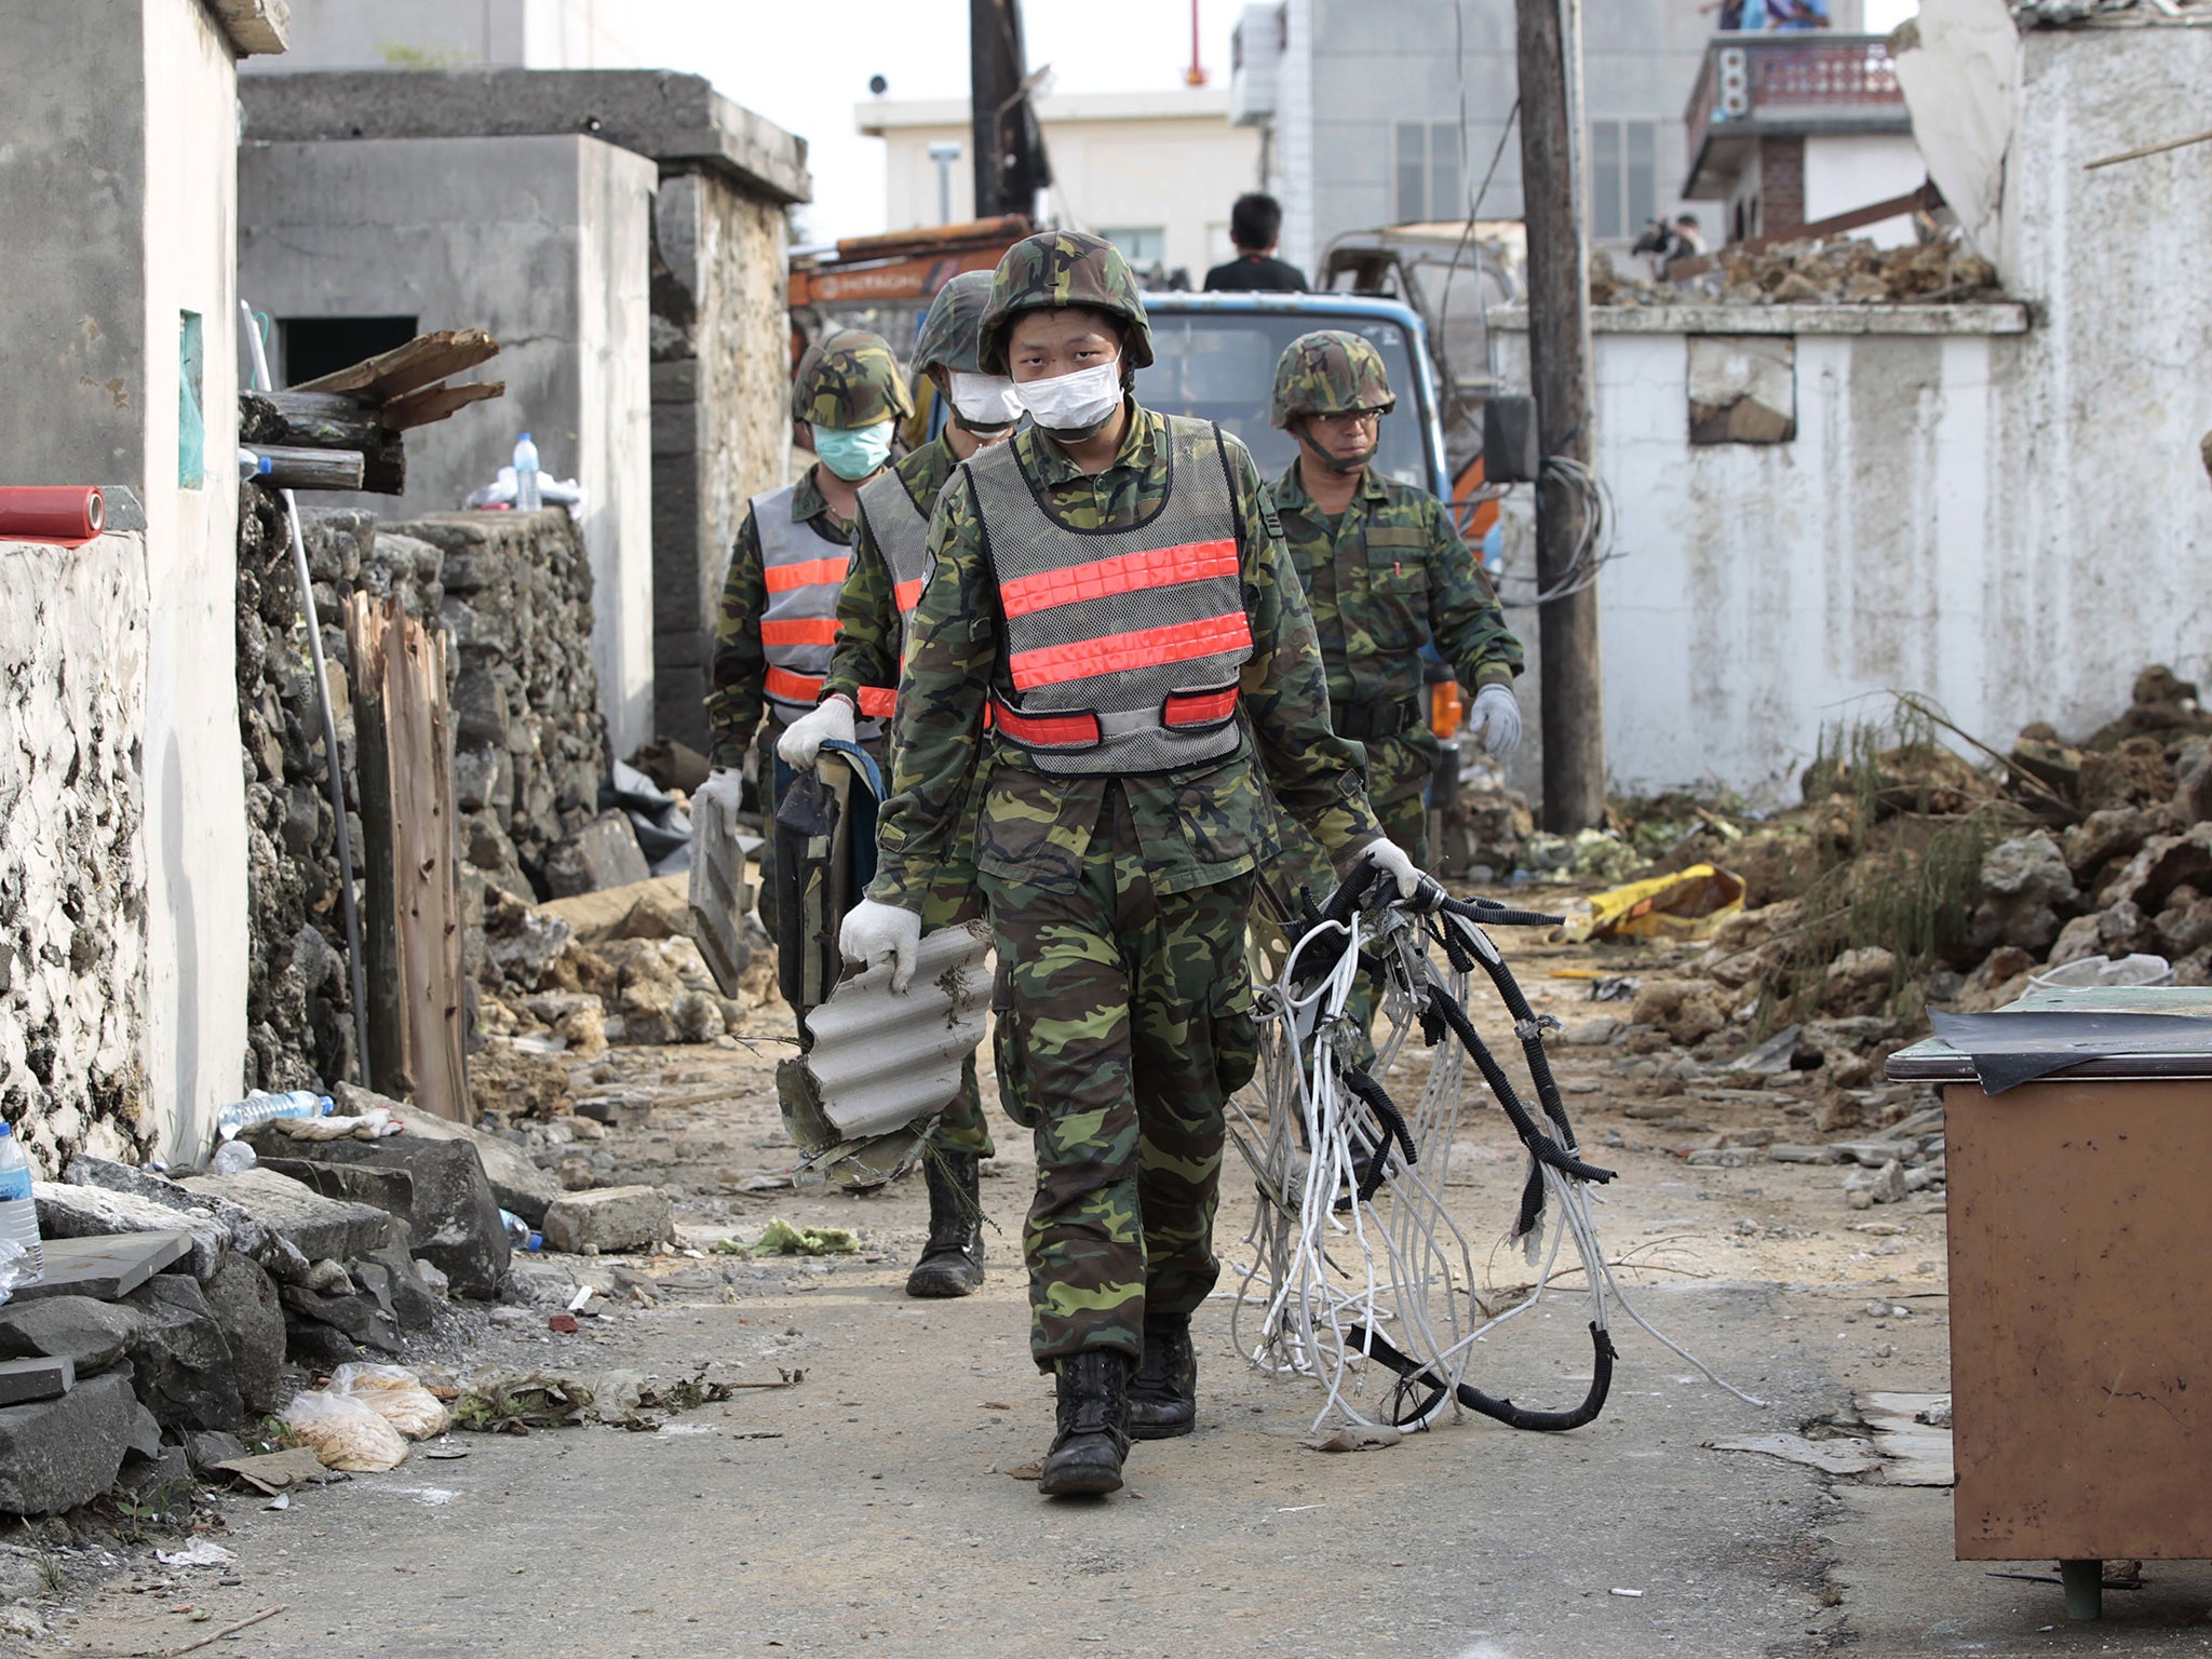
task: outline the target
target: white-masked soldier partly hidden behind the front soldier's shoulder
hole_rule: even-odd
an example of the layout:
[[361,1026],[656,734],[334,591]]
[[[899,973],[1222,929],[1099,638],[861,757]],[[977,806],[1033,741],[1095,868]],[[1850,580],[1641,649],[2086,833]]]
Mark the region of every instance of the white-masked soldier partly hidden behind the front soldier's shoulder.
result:
[[[1013,429],[1011,380],[989,380],[975,363],[975,325],[991,294],[991,272],[953,276],[929,303],[914,369],[936,380],[951,418],[931,442],[863,484],[854,522],[852,568],[838,591],[836,648],[823,679],[818,708],[794,721],[776,752],[785,763],[812,768],[823,739],[852,741],[860,712],[874,706],[872,688],[898,684],[905,619],[929,571],[929,511],[953,467]],[[973,852],[962,836],[945,874],[922,905],[922,929],[953,927],[982,911],[975,898]],[[907,1274],[909,1296],[967,1296],[982,1287],[980,1159],[991,1157],[975,1084],[975,1057],[960,1068],[960,1095],[929,1137],[922,1166],[929,1183],[929,1241]]]

